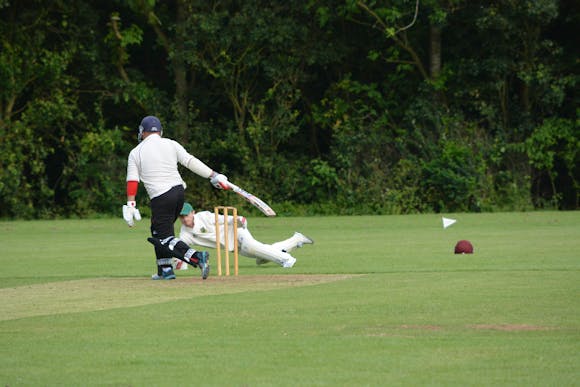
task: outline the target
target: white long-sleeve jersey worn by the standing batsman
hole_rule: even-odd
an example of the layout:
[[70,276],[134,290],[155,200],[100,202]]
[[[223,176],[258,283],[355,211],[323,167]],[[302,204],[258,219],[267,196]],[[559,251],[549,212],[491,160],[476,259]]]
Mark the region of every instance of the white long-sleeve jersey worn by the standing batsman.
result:
[[204,178],[212,173],[210,167],[189,154],[177,141],[158,134],[149,135],[129,153],[127,181],[142,181],[149,198],[153,199],[176,185],[185,187],[178,163]]

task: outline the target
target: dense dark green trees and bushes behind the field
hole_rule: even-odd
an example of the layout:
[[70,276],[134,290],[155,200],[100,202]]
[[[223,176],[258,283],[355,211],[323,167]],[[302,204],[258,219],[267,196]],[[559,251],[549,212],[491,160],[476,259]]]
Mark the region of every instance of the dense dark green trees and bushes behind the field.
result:
[[576,209],[579,21],[564,0],[0,0],[0,217],[118,213],[148,114],[286,213]]

